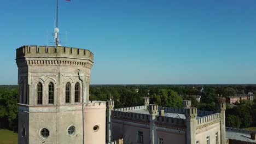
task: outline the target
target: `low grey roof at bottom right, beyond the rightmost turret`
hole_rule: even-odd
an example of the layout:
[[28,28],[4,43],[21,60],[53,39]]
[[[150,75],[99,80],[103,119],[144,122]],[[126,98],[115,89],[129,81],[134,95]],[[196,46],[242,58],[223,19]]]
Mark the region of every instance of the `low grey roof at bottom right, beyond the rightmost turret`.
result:
[[226,139],[256,143],[256,140],[251,139],[250,134],[237,133],[235,131],[228,131],[228,130],[226,130]]

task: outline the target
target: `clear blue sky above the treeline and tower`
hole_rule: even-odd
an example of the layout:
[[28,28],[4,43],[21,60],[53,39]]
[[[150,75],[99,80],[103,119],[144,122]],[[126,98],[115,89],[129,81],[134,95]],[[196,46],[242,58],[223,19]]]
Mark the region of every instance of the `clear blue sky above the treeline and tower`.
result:
[[[46,45],[55,7],[1,1],[0,85],[17,83],[16,48]],[[59,0],[59,28],[94,53],[91,84],[256,83],[254,0]]]

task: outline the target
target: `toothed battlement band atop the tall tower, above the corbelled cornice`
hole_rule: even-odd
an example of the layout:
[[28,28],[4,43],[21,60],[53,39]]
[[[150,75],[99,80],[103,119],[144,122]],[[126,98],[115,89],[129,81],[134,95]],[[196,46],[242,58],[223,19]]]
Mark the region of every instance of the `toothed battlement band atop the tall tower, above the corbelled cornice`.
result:
[[16,49],[16,59],[22,57],[65,57],[88,59],[93,62],[94,54],[89,50],[66,46],[21,46]]

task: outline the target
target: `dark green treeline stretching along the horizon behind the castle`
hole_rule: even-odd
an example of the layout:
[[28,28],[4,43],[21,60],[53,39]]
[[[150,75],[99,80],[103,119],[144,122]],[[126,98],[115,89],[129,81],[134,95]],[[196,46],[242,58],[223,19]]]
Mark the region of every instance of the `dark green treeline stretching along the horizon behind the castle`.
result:
[[[203,90],[202,90],[203,88]],[[191,100],[200,110],[216,111],[217,97],[235,94],[256,94],[256,85],[92,85],[90,100],[115,100],[115,107],[143,105],[143,97],[151,104],[182,107],[183,100]],[[200,103],[195,95],[201,96]],[[0,129],[18,130],[18,86],[0,86]],[[226,126],[256,126],[256,100],[227,106]]]

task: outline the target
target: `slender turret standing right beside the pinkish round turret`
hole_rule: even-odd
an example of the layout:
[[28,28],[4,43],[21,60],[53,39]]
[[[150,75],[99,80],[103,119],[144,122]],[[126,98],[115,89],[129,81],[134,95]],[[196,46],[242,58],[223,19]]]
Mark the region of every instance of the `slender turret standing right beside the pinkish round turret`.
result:
[[106,136],[106,142],[112,141],[112,123],[111,123],[111,111],[114,109],[114,100],[108,100],[106,101],[107,104],[107,111],[106,111],[106,123],[107,123],[107,136]]

